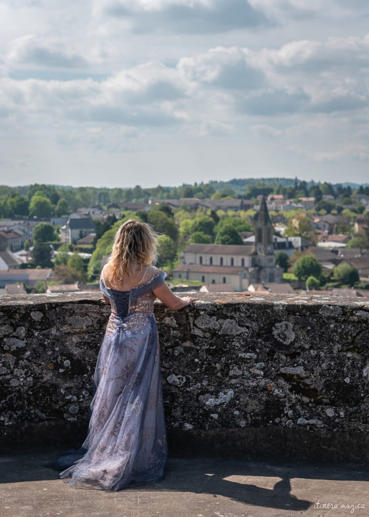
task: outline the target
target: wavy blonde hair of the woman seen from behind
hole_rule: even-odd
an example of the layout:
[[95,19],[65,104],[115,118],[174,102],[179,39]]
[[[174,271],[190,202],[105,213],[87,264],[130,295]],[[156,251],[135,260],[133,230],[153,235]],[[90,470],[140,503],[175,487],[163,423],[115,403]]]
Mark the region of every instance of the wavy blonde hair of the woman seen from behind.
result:
[[152,227],[137,219],[128,219],[115,234],[112,252],[107,259],[109,276],[118,282],[130,264],[150,266],[156,263],[158,234]]

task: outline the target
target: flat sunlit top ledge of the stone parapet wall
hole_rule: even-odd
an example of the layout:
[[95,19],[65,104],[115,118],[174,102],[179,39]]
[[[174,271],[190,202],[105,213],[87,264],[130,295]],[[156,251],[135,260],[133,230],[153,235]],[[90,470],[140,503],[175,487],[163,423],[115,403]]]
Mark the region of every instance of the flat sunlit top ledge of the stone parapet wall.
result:
[[[193,291],[179,293],[181,296],[194,295]],[[274,293],[195,293],[197,300],[193,306],[200,309],[206,305],[236,305],[247,303],[249,305],[270,305],[275,309],[284,306],[340,306],[352,309],[369,310],[369,299],[348,298],[342,296],[325,295],[299,295],[299,294],[274,294]],[[0,309],[9,306],[36,306],[43,304],[59,303],[89,303],[103,302],[100,291],[80,291],[77,293],[55,294],[28,294],[28,295],[3,295],[0,296]],[[159,300],[156,302],[162,305]]]

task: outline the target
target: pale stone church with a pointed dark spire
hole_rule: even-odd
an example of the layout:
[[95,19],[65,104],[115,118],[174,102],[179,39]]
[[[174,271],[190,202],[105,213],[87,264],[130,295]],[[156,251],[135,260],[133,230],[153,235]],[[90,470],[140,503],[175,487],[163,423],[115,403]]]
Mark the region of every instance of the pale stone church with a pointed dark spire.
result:
[[173,278],[227,283],[238,292],[247,291],[251,284],[282,282],[283,269],[275,265],[273,226],[265,197],[255,224],[255,246],[190,244],[180,256]]

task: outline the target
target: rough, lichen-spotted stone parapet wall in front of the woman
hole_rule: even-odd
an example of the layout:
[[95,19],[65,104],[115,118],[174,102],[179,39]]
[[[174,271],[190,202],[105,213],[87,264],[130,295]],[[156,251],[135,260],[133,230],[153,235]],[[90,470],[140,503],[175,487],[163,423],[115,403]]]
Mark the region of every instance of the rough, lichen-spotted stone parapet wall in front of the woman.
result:
[[[351,459],[367,451],[368,301],[196,296],[181,311],[155,307],[178,444],[212,436],[214,448],[223,440],[272,451],[285,436],[291,451],[308,444],[306,454],[319,443],[332,454],[350,444]],[[0,297],[3,442],[83,435],[109,312],[99,293]]]

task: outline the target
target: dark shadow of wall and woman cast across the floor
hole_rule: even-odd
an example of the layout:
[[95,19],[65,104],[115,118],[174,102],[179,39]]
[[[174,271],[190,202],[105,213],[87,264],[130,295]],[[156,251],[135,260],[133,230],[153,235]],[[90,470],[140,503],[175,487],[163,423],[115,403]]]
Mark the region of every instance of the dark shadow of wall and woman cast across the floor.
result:
[[[27,452],[24,448],[9,450],[0,458],[0,482],[59,480],[57,472],[44,466],[57,455],[54,449],[49,448],[33,448]],[[291,494],[291,479],[300,478],[313,486],[322,480],[360,482],[368,480],[368,477],[367,469],[355,465],[339,467],[282,459],[267,461],[250,455],[238,458],[177,455],[168,461],[164,480],[141,484],[129,491],[210,494],[214,498],[226,497],[241,504],[302,511],[314,503]],[[65,488],[66,485],[60,481],[60,491]]]

